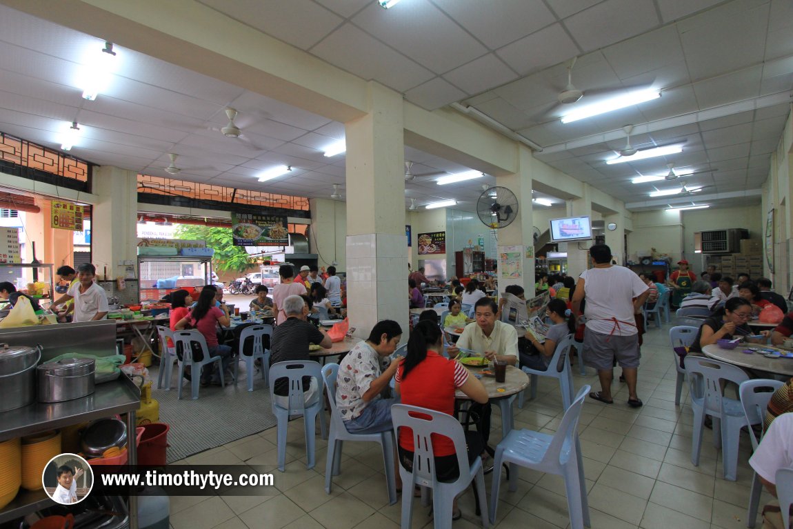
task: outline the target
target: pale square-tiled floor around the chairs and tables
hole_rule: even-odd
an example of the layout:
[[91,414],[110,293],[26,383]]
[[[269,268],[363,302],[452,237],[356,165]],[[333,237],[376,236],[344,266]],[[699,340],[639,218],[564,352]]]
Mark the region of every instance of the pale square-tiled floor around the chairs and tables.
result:
[[[676,371],[668,342],[668,325],[651,328],[642,347],[639,397],[643,408],[629,408],[627,389],[615,385],[615,404],[586,399],[580,439],[589,491],[593,529],[714,529],[745,527],[746,503],[752,481],[747,463],[749,438],[741,438],[738,480],[722,478],[721,453],[706,431],[699,466],[691,465],[692,414],[688,388],[675,406]],[[618,370],[619,371],[619,370]],[[574,377],[575,385],[599,389],[592,370]],[[563,415],[555,381],[538,386],[538,399],[515,408],[515,427],[554,431]],[[500,417],[494,407],[491,442],[500,437]],[[234,464],[247,462],[275,469],[276,429],[239,439],[194,455],[188,462]],[[388,504],[381,451],[374,443],[345,443],[342,473],[333,493],[324,492],[327,443],[317,438],[316,468],[305,469],[303,422],[289,424],[286,472],[274,470],[278,493],[273,496],[172,497],[174,529],[234,529],[237,527],[328,527],[389,529],[399,527],[400,503]],[[490,476],[485,477],[488,484]],[[561,478],[523,470],[518,490],[501,487],[496,527],[553,529],[569,527]],[[764,493],[762,502],[768,500]],[[469,489],[460,501],[463,518],[454,527],[479,527]],[[758,523],[757,527],[760,527]],[[414,504],[412,527],[432,527],[428,508]]]

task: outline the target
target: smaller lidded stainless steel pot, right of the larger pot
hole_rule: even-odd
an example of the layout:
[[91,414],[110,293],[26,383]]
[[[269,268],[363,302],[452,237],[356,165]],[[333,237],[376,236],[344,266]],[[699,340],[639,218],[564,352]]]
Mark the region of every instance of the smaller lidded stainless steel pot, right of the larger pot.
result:
[[38,367],[39,401],[63,402],[94,393],[94,358],[63,358]]

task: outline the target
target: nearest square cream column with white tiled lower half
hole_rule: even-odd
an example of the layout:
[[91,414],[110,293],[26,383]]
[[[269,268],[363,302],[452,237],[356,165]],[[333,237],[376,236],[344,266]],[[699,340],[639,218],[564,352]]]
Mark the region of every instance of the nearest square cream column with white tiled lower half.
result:
[[347,313],[356,335],[396,320],[408,339],[402,96],[370,82],[370,112],[347,133]]

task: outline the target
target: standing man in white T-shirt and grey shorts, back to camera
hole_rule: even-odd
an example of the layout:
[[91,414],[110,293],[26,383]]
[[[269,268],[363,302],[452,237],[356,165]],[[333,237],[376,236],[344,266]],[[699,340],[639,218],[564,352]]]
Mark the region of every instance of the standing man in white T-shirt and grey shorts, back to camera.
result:
[[589,248],[589,255],[592,268],[580,275],[573,294],[573,314],[577,316],[581,301],[587,300],[584,363],[594,367],[600,378],[600,391],[589,393],[589,397],[614,403],[611,379],[616,358],[628,385],[628,404],[638,408],[642,401],[636,395],[639,348],[634,312],[644,305],[649,288],[632,270],[612,265],[611,248],[605,244]]

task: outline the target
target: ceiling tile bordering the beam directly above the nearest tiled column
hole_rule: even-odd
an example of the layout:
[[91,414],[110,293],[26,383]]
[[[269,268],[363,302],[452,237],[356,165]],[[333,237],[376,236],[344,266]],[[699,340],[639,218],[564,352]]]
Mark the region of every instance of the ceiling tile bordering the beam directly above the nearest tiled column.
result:
[[400,92],[433,77],[427,68],[351,24],[331,33],[311,52],[358,77],[375,79]]

